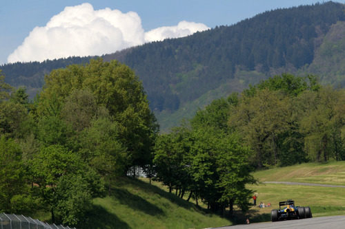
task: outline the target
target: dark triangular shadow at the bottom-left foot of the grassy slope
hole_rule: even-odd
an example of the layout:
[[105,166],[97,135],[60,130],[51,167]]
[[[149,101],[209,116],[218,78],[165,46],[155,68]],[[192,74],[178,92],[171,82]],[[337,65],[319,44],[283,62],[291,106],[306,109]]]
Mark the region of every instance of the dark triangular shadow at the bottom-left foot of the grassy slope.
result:
[[92,210],[84,217],[84,220],[78,224],[79,229],[112,229],[124,228],[129,229],[130,226],[121,221],[116,215],[108,212],[101,206],[94,205]]

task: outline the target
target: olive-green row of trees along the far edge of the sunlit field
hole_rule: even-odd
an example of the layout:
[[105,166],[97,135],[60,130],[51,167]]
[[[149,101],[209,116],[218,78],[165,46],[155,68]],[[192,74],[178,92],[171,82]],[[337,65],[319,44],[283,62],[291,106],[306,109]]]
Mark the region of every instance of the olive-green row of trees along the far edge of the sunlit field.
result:
[[228,127],[253,150],[257,168],[287,166],[345,160],[344,117],[344,89],[282,74],[244,90]]

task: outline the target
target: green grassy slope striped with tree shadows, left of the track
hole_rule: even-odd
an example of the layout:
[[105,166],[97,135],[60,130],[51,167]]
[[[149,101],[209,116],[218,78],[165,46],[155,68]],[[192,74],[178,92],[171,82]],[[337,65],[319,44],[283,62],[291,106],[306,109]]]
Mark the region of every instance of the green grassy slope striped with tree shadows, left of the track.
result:
[[77,228],[208,228],[232,224],[157,186],[130,178],[118,179],[111,195],[94,199],[86,219]]

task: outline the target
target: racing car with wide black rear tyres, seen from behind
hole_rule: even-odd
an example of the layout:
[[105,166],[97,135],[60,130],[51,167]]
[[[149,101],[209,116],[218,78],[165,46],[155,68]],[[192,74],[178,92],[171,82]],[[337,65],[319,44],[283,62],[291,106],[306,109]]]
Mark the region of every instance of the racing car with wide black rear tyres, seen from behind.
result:
[[313,215],[311,215],[311,208],[295,206],[295,201],[292,199],[280,201],[279,209],[274,209],[270,212],[270,218],[273,222],[286,219],[305,219],[311,217],[313,217]]

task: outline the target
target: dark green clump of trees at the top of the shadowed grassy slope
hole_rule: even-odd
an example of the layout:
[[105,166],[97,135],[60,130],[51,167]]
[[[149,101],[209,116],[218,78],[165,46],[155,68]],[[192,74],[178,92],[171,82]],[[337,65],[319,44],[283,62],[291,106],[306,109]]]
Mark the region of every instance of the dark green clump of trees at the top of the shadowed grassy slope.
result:
[[157,178],[179,191],[183,197],[201,199],[213,211],[224,212],[236,204],[248,210],[252,190],[246,184],[255,182],[250,175],[248,147],[230,133],[226,122],[231,106],[237,105],[234,94],[228,100],[215,100],[191,120],[191,128],[179,127],[160,135],[155,146]]

